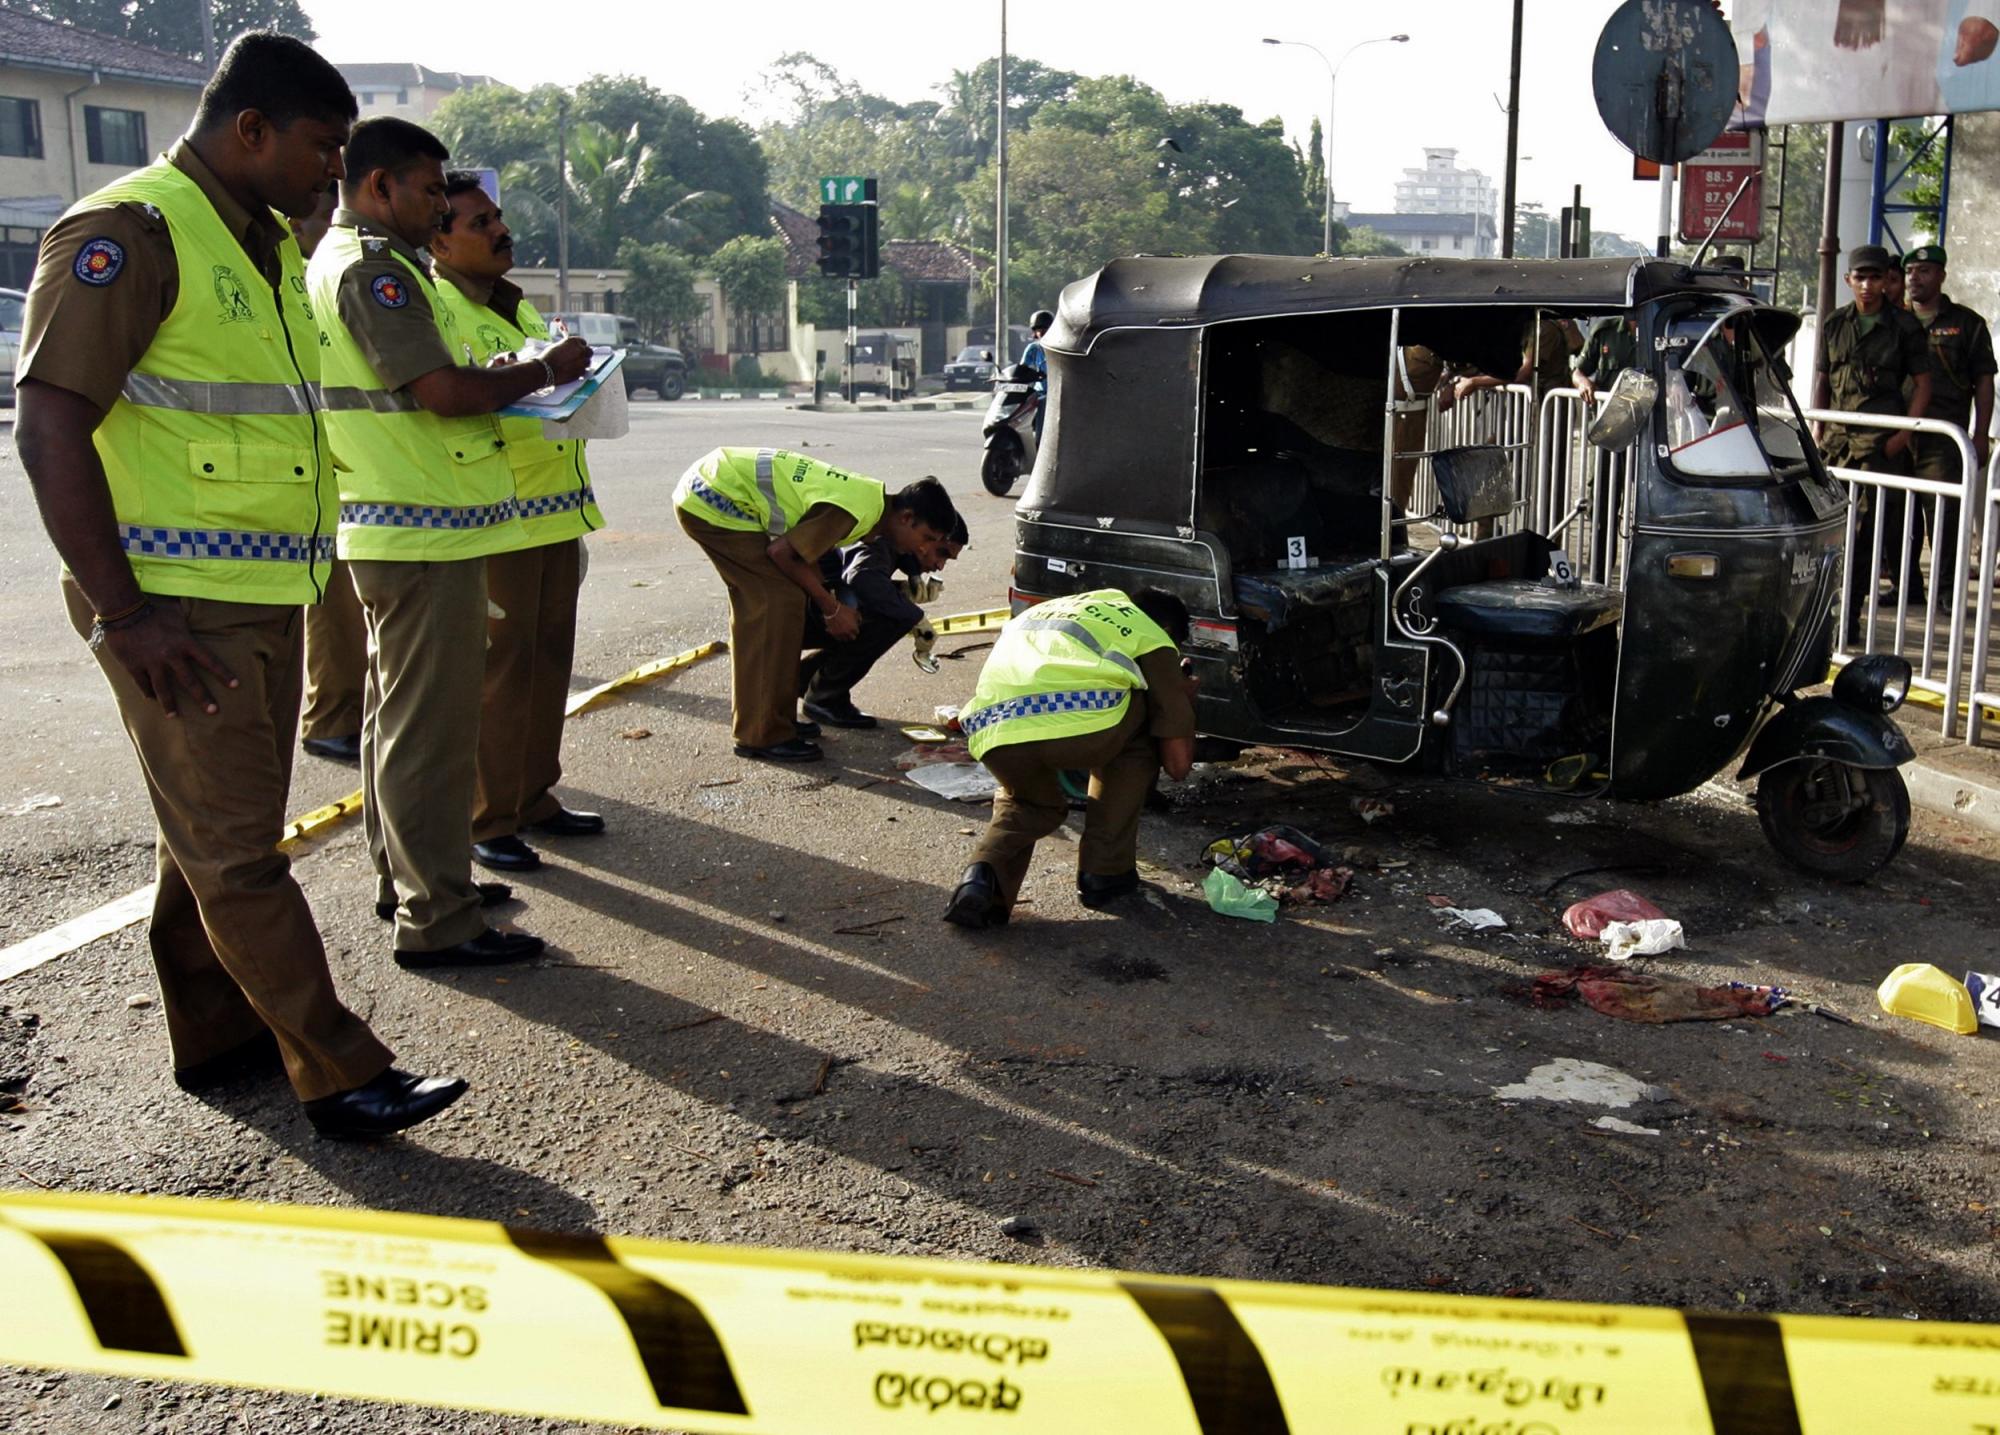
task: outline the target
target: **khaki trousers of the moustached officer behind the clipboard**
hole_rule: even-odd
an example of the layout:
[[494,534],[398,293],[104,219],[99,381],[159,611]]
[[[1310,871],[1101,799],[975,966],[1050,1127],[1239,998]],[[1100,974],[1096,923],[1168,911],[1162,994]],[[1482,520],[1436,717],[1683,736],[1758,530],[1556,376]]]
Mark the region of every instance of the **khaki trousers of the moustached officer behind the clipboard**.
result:
[[562,803],[562,710],[576,664],[578,538],[486,560],[486,598],[504,616],[486,624],[472,841],[510,837],[554,817]]

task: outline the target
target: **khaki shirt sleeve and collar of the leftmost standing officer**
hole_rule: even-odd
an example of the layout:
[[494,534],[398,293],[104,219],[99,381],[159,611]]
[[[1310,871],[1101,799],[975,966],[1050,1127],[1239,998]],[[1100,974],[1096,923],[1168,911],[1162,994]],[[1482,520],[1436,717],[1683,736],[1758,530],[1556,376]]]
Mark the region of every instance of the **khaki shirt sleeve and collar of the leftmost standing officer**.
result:
[[[200,186],[264,282],[278,284],[278,246],[290,238],[284,222],[238,204],[186,140],[176,140],[166,158]],[[92,240],[110,240],[124,254],[108,284],[84,284],[72,270]],[[178,298],[174,236],[156,208],[128,202],[68,214],[42,236],[16,378],[66,388],[110,410]]]

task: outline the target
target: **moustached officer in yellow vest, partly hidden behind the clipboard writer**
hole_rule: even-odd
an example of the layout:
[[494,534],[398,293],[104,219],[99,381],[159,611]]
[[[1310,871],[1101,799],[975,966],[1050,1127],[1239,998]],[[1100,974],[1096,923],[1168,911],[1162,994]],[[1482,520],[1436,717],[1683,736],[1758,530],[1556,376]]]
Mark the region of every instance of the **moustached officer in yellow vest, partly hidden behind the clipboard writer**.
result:
[[[548,324],[508,284],[514,236],[480,176],[454,170],[444,180],[452,206],[430,238],[438,298],[452,312],[472,358],[518,354],[548,340]],[[556,797],[562,777],[562,710],[576,658],[576,590],[584,580],[584,534],[604,528],[580,440],[542,438],[540,420],[502,418],[500,436],[514,468],[524,548],[486,560],[486,696],[480,718],[478,795],[472,803],[472,859],[494,871],[532,871],[542,857],[522,827],[550,837],[604,831],[604,817],[572,811]],[[498,612],[494,612],[498,610]]]

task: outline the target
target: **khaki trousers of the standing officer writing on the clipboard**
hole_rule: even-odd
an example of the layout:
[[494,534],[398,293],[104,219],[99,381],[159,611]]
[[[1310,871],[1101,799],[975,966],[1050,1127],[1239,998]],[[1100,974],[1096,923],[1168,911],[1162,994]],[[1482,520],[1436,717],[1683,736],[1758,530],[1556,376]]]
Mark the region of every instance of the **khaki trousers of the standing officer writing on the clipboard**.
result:
[[396,949],[436,951],[486,927],[472,885],[472,785],[486,678],[486,560],[354,560],[368,616],[362,823]]

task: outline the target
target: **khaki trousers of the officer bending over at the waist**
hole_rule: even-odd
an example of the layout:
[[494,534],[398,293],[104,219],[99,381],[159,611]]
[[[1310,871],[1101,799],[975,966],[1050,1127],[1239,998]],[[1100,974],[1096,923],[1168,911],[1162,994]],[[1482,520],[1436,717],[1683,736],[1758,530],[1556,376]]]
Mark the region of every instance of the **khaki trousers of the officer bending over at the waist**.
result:
[[730,733],[742,747],[798,735],[798,654],[806,596],[766,558],[768,534],[740,534],[678,514],[730,592]]

